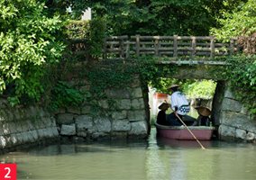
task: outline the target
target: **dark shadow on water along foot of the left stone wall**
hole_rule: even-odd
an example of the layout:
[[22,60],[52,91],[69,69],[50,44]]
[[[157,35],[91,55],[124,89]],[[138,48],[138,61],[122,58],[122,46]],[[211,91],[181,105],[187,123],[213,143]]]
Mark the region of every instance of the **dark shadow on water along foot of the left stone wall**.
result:
[[114,150],[127,148],[148,147],[147,139],[104,139],[98,141],[78,141],[72,140],[60,141],[54,145],[39,146],[35,148],[17,150],[9,153],[10,155],[27,155],[27,156],[66,156],[77,153],[107,153]]

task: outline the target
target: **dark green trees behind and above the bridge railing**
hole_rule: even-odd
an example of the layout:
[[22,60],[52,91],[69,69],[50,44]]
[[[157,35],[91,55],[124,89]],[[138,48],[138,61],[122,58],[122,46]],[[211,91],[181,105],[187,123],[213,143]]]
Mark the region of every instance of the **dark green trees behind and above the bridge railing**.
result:
[[234,0],[125,0],[100,1],[94,16],[105,16],[110,35],[209,35],[219,27],[222,12],[230,12]]

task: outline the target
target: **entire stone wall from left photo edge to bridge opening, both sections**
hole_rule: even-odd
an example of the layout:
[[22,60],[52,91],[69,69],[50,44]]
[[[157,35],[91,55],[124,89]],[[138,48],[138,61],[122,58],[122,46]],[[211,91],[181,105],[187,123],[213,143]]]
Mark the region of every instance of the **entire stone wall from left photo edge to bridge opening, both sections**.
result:
[[[74,82],[69,84],[76,85]],[[84,91],[91,84],[84,80],[79,85]],[[83,140],[146,138],[150,133],[150,110],[148,95],[143,95],[141,85],[140,76],[134,76],[127,89],[106,89],[106,98],[98,105],[107,109],[107,98],[116,100],[121,111],[111,114],[94,113],[89,105],[48,112],[35,107],[11,107],[7,100],[0,100],[0,152],[59,140],[59,136]]]

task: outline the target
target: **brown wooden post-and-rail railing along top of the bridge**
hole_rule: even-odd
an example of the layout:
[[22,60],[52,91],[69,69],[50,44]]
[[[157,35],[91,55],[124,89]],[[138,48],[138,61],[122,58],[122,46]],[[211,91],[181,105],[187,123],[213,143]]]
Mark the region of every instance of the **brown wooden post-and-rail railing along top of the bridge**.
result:
[[[83,42],[86,40],[72,41],[73,44]],[[143,54],[170,59],[223,57],[236,50],[235,42],[231,39],[230,43],[219,43],[215,37],[207,36],[114,36],[105,38],[102,58],[130,58]],[[75,54],[86,54],[86,49],[75,51]]]

